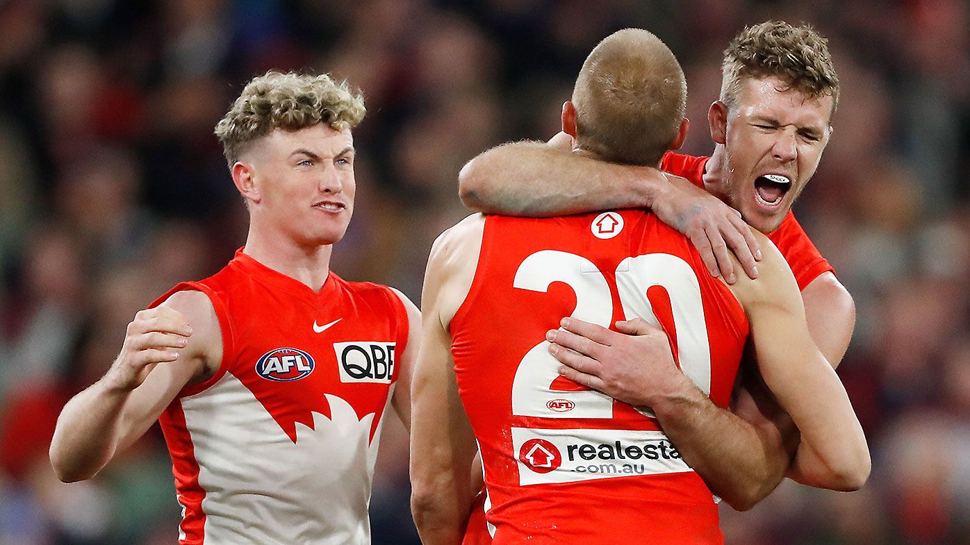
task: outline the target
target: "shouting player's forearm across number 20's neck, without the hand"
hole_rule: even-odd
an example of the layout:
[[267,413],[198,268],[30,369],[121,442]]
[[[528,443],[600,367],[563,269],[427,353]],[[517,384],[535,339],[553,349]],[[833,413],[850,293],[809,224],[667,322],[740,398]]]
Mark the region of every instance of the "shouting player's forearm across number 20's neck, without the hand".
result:
[[493,147],[469,161],[459,174],[459,195],[477,211],[541,217],[650,208],[665,183],[655,169],[522,142]]

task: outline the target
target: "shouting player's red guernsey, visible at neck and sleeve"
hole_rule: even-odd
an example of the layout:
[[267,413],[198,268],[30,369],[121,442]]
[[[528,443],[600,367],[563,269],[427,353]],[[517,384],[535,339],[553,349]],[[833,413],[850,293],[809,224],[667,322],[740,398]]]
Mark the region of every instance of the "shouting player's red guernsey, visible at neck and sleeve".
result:
[[[708,159],[710,157],[695,157],[668,151],[663,154],[661,170],[686,177],[703,189],[704,168],[707,166]],[[812,280],[818,278],[823,272],[835,272],[795,220],[792,210],[789,210],[778,229],[768,234],[768,239],[774,242],[785,256],[785,261],[788,261],[794,278],[798,281],[798,289],[805,289],[805,286],[812,283]]]

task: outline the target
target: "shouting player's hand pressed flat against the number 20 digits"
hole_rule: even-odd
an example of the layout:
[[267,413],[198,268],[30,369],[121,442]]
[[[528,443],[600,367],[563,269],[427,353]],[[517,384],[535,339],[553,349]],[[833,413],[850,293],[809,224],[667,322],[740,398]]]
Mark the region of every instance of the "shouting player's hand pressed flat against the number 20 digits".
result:
[[549,352],[563,364],[560,374],[635,407],[653,406],[692,387],[674,363],[663,330],[642,318],[620,321],[621,333],[564,318],[562,329],[550,330]]

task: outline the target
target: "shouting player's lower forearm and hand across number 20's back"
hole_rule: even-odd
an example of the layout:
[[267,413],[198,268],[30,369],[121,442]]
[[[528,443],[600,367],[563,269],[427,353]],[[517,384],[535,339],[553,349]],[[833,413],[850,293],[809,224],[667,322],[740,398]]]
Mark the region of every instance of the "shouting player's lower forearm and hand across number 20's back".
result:
[[684,461],[734,509],[749,509],[774,490],[793,452],[781,434],[711,401],[677,368],[660,328],[637,318],[618,322],[617,329],[564,320],[547,336],[564,364],[560,372],[619,401],[650,407]]

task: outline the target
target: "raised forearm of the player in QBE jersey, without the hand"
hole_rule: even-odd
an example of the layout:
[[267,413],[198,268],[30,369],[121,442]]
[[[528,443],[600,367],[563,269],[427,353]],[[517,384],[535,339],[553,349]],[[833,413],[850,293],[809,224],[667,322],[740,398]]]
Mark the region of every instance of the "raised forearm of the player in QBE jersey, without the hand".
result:
[[112,459],[130,392],[96,382],[64,406],[50,441],[50,464],[64,482],[89,479]]

